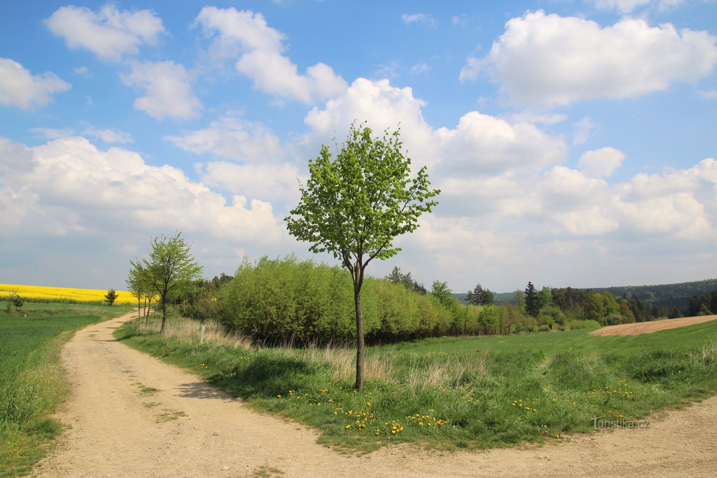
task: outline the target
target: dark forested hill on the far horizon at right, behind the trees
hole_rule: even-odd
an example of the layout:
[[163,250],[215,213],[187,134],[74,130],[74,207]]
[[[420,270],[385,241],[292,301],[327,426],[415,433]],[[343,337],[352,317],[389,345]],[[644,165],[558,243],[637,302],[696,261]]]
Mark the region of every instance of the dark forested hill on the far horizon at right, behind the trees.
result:
[[[607,291],[615,297],[631,297],[632,294],[650,305],[664,307],[673,310],[677,307],[683,315],[687,313],[690,298],[694,295],[705,295],[708,292],[717,290],[717,279],[705,279],[695,282],[680,282],[678,284],[663,285],[627,285],[621,287],[592,287],[591,289],[576,290],[592,290],[597,294]],[[466,294],[455,294],[455,296],[465,302]],[[510,304],[516,302],[515,292],[501,292],[495,294],[495,305]]]

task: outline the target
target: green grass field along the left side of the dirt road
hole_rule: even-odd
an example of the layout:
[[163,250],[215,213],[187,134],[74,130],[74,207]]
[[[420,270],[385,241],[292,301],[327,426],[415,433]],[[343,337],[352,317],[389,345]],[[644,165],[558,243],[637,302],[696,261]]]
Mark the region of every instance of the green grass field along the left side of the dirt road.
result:
[[[42,307],[0,312],[1,478],[30,472],[47,444],[60,434],[60,424],[47,415],[67,393],[60,363],[62,345],[73,331],[109,317],[97,307],[62,310],[60,305],[54,309],[49,304],[32,305]],[[125,309],[113,307],[114,311]]]

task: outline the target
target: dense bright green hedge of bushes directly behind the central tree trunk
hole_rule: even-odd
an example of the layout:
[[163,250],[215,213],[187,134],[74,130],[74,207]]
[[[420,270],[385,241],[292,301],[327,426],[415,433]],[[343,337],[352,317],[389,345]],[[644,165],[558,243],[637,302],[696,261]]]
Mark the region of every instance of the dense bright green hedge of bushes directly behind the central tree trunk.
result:
[[[353,285],[345,269],[262,257],[244,263],[219,292],[229,328],[270,342],[345,342],[356,337]],[[366,340],[371,343],[445,335],[452,315],[432,295],[366,277],[361,290]]]

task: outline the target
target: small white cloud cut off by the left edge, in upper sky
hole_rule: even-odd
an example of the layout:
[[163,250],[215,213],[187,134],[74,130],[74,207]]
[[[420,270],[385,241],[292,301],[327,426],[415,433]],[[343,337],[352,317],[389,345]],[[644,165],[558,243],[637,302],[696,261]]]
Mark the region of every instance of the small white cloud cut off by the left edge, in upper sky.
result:
[[0,104],[30,110],[49,102],[52,93],[70,90],[70,83],[52,72],[32,75],[22,64],[0,58]]

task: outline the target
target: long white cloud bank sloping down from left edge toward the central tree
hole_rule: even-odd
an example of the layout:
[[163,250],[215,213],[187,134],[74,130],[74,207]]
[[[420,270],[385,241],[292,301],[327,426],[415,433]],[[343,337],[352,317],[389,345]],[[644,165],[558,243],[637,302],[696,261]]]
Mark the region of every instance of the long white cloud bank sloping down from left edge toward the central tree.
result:
[[227,201],[172,166],[150,166],[124,148],[100,150],[82,137],[27,146],[0,139],[0,219],[9,234],[96,236],[173,231],[232,242],[276,242],[272,205]]

